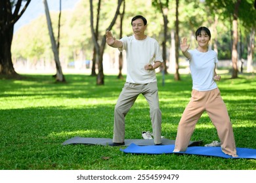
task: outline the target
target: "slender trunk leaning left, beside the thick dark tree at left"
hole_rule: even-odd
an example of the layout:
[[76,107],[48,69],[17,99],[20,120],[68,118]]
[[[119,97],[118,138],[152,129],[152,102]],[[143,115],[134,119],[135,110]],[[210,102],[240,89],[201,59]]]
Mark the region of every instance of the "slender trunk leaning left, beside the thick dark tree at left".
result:
[[48,8],[48,5],[47,5],[47,0],[43,0],[43,3],[45,5],[45,15],[46,15],[46,18],[47,18],[47,25],[48,25],[48,29],[49,29],[49,35],[50,35],[50,38],[51,38],[53,55],[54,55],[54,60],[55,60],[55,63],[56,63],[56,70],[57,70],[57,72],[56,72],[56,81],[66,82],[66,80],[64,78],[64,75],[62,74],[60,59],[58,57],[58,48],[56,46],[56,41],[55,41],[54,34],[53,34],[53,27],[52,27],[49,8]]

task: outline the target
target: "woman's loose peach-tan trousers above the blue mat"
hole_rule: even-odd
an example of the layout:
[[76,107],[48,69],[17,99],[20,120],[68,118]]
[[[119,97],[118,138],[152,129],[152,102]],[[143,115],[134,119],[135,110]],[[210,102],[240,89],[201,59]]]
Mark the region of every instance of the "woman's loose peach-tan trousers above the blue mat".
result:
[[206,92],[192,90],[191,95],[190,102],[185,108],[179,122],[175,149],[173,152],[186,151],[196,123],[203,112],[206,111],[209,118],[211,118],[211,122],[217,129],[223,152],[230,156],[236,154],[236,144],[234,141],[232,125],[226,105],[221,98],[219,88]]

